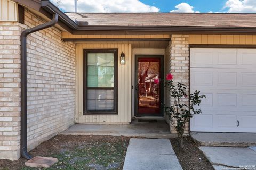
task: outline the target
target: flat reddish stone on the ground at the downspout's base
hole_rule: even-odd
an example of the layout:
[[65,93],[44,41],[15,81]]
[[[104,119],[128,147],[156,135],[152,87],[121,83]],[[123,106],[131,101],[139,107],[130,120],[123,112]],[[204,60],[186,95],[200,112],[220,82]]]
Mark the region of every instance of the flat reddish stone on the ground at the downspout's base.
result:
[[41,157],[41,156],[36,156],[30,160],[28,160],[25,165],[30,166],[30,167],[44,167],[44,168],[49,168],[53,164],[57,163],[58,159],[57,158],[52,158],[52,157]]

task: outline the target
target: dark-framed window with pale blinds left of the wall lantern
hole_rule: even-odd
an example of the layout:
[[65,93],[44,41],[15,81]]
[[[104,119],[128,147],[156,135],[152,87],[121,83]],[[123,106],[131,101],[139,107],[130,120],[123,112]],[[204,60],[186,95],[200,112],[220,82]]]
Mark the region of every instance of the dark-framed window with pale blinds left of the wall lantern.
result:
[[84,50],[84,114],[117,114],[117,49]]

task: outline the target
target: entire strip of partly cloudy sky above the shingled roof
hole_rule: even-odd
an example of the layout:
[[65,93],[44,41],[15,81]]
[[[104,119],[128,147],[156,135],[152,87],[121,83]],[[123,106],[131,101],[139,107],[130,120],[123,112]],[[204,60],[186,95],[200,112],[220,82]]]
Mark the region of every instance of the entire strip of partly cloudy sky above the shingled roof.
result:
[[[60,1],[64,12],[74,12],[75,0]],[[256,0],[77,0],[78,12],[217,12],[256,13]]]

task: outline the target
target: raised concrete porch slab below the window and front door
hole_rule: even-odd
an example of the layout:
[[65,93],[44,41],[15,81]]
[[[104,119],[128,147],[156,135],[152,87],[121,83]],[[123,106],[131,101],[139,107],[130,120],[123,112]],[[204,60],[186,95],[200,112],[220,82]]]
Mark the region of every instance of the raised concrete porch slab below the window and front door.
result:
[[63,135],[113,135],[126,137],[144,137],[170,139],[177,137],[171,134],[169,125],[164,121],[156,123],[132,124],[75,124],[63,131]]

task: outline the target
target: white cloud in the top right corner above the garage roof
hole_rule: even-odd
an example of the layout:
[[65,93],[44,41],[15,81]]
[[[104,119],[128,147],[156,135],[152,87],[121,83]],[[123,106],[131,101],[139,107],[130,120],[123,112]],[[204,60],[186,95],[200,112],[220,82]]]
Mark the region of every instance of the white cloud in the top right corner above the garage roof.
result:
[[255,0],[228,0],[225,8],[229,13],[255,13],[256,1]]

